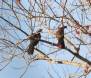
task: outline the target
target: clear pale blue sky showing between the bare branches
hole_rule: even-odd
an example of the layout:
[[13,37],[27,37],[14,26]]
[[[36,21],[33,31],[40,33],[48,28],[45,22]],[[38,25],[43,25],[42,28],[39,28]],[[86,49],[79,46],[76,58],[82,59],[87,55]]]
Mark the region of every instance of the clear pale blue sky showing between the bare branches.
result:
[[[8,3],[9,4],[11,4],[11,0],[10,0],[10,2],[9,2],[9,0],[7,0],[8,1]],[[33,0],[31,0],[32,1],[32,3],[34,2]],[[38,0],[37,0],[38,1]],[[49,0],[49,1],[51,1],[51,0]],[[59,0],[58,0],[59,1]],[[75,0],[72,0],[73,1],[73,3],[74,3],[74,1]],[[14,2],[15,3],[15,2]],[[26,0],[22,0],[21,1],[21,3],[22,3],[22,5],[24,5],[24,7],[26,8],[26,9],[29,9],[29,8],[31,8],[31,6],[29,6],[29,2],[27,2]],[[77,3],[77,2],[76,2]],[[62,15],[62,10],[60,10],[59,8],[60,8],[60,6],[58,7],[58,5],[54,2],[54,0],[52,0],[52,3],[50,3],[50,4],[52,4],[52,6],[51,7],[54,7],[54,11],[55,11],[55,13],[58,15],[58,16],[61,16]],[[0,1],[0,6],[2,5],[2,1]],[[15,5],[14,4],[14,6],[15,7],[17,7],[17,5]],[[67,4],[67,8],[69,9],[69,11],[71,11],[72,9],[74,9],[74,8],[77,8],[77,7],[72,7],[73,5],[72,5],[72,2],[70,2],[70,1],[68,1],[68,4]],[[1,7],[4,7],[4,8],[8,8],[6,5],[3,5],[3,6],[1,6]],[[39,10],[39,7],[38,6],[35,6],[36,7],[36,9],[37,9],[37,11],[40,11]],[[81,7],[80,9],[86,9],[86,8],[88,8],[88,7]],[[32,9],[32,8],[31,8]],[[80,10],[80,9],[76,9],[76,10],[74,10],[74,11],[72,11],[72,15],[73,15],[73,17],[76,19],[76,20],[78,20],[79,21],[79,23],[80,24],[82,24],[82,25],[88,25],[88,24],[91,24],[90,22],[88,22],[88,20],[86,19],[86,14],[85,13],[82,13],[82,11]],[[25,11],[21,11],[21,10],[19,10],[19,9],[16,9],[16,11],[17,12],[21,12],[21,13],[23,13],[23,14],[25,14],[25,15],[27,15],[27,13],[25,12]],[[53,14],[52,14],[52,12],[51,12],[51,10],[46,10],[47,11],[47,13],[50,15],[50,16],[52,16]],[[87,11],[88,12],[88,11]],[[10,15],[12,15],[13,16],[13,12],[11,12],[11,11],[9,11],[9,10],[3,10],[3,14],[10,14]],[[89,13],[89,12],[88,12]],[[0,13],[1,14],[1,13]],[[32,13],[33,15],[35,14],[35,13]],[[22,30],[24,30],[25,32],[27,32],[28,34],[30,34],[30,29],[29,29],[29,25],[31,25],[31,24],[29,24],[29,19],[26,19],[25,17],[22,17],[22,16],[19,16],[19,14],[17,14],[17,16],[19,17],[19,20],[20,20],[20,25],[21,25],[21,29]],[[89,15],[88,15],[89,16]],[[14,17],[11,17],[11,16],[9,16],[9,18],[8,18],[8,16],[7,17],[5,17],[4,16],[4,18],[6,18],[6,19],[9,19],[14,25],[19,25],[18,23],[17,23],[17,19],[16,18],[14,18]],[[89,18],[90,18],[90,16],[89,16]],[[58,19],[58,18],[57,18]],[[84,19],[83,21],[82,21],[82,19]],[[42,20],[42,19],[41,19]],[[44,20],[43,20],[44,21]],[[60,20],[59,20],[60,21]],[[43,28],[43,33],[41,34],[42,35],[42,39],[45,39],[45,40],[49,40],[49,41],[51,41],[51,42],[55,42],[55,43],[57,43],[57,41],[56,41],[56,38],[54,38],[55,36],[54,35],[49,35],[48,33],[46,33],[47,32],[47,30],[44,28],[44,27],[42,27],[42,25],[41,26],[36,26],[36,25],[39,25],[37,22],[36,22],[36,24],[35,24],[35,26],[34,26],[34,22],[35,22],[35,20],[33,19],[33,21],[32,21],[32,23],[33,23],[33,27],[35,27],[35,29],[34,29],[34,32],[37,30],[37,29],[39,29],[39,28]],[[49,20],[48,20],[48,22],[49,22]],[[49,24],[47,22],[47,25]],[[3,26],[5,27],[5,28],[12,28],[12,27],[10,27],[9,25],[7,25],[7,23],[5,22],[5,21],[3,21],[2,22],[2,24],[3,24]],[[5,26],[6,25],[6,26]],[[56,30],[56,28],[58,27],[58,24],[57,23],[55,23],[55,21],[50,21],[50,25],[51,25],[51,28],[53,29],[54,27],[55,27],[55,30]],[[55,26],[55,25],[57,25],[57,26]],[[67,26],[68,27],[68,26]],[[1,28],[1,27],[0,27]],[[66,30],[65,30],[65,33],[68,33],[69,31],[70,31],[71,29],[68,27]],[[12,34],[12,36],[14,36],[14,37],[16,37],[16,38],[13,38],[12,36],[10,36],[10,37],[8,37],[8,36],[6,36],[7,38],[10,38],[13,42],[15,42],[15,43],[17,43],[17,40],[19,39],[19,40],[22,40],[22,39],[25,39],[25,38],[27,38],[27,36],[26,35],[24,35],[23,33],[21,33],[20,31],[18,31],[18,30],[16,30],[16,31],[12,31],[12,30],[10,30],[9,31],[9,33],[10,34]],[[16,34],[17,33],[17,34]],[[73,32],[73,34],[75,34],[75,32]],[[18,36],[17,36],[18,35]],[[65,37],[68,37],[68,36],[70,36],[70,35],[72,35],[72,34],[67,34],[67,35],[65,35]],[[72,35],[73,36],[73,35]],[[78,37],[78,35],[75,35],[75,36],[77,36]],[[84,37],[84,36],[83,36]],[[83,40],[86,40],[85,38],[81,38],[81,39],[83,39]],[[0,37],[1,38],[1,37]],[[47,39],[47,38],[49,38],[49,39]],[[90,39],[88,38],[87,39],[87,41],[90,41]],[[72,42],[72,43],[76,43],[76,42],[78,42],[76,39],[70,39],[70,41]],[[78,42],[79,43],[79,42]],[[28,45],[29,45],[29,41],[25,41],[25,42],[23,42],[22,44],[20,44],[19,46],[21,46],[22,48],[24,48],[24,49],[26,49],[27,47],[28,47]],[[38,46],[40,46],[40,47],[38,47]],[[48,47],[47,47],[48,46]],[[67,47],[69,47],[70,48],[70,46],[69,45],[67,45]],[[53,46],[50,46],[50,45],[47,45],[47,44],[43,44],[42,42],[40,42],[39,43],[39,45],[37,45],[37,48],[38,49],[40,49],[42,52],[44,52],[45,54],[48,54],[48,53],[50,53],[50,52],[53,52],[53,51],[55,51],[55,50],[57,50],[58,48],[57,47],[53,47]],[[12,48],[13,49],[13,48]],[[9,51],[9,49],[5,49],[5,51]],[[14,54],[14,52],[15,52],[15,54],[19,54],[19,53],[21,53],[21,50],[14,50],[13,51],[13,54]],[[88,53],[88,48],[86,48],[86,46],[84,47],[84,46],[81,46],[81,49],[80,49],[80,54],[83,56],[83,57],[86,57],[86,52]],[[10,53],[10,52],[9,52]],[[35,55],[36,53],[34,53],[34,55]],[[33,55],[33,56],[34,56]],[[0,57],[2,57],[2,56],[4,56],[4,55],[0,55]],[[27,58],[29,58],[30,56],[27,54],[27,53],[25,53],[25,58],[27,59]],[[4,56],[4,57],[7,57],[7,56]],[[32,56],[31,56],[32,57]],[[68,51],[66,51],[66,50],[60,50],[60,51],[58,51],[58,53],[55,53],[54,55],[49,55],[49,57],[52,57],[52,58],[60,58],[60,59],[62,59],[62,60],[71,60],[72,59],[72,57],[73,57],[73,55],[71,54],[71,53],[69,53]],[[8,57],[7,57],[8,58]],[[90,59],[90,58],[89,58]],[[77,62],[81,62],[79,59],[77,59],[77,58],[75,58],[74,59],[74,61],[77,61]],[[6,64],[8,63],[8,62],[5,62]],[[0,65],[0,68],[2,68],[4,65],[6,65],[6,64],[1,64]],[[50,64],[48,61],[46,61],[46,60],[38,60],[38,61],[34,61],[34,62],[31,62],[30,63],[30,65],[28,65],[28,67],[27,67],[27,64],[29,63],[29,61],[28,60],[25,60],[24,58],[23,58],[23,55],[20,55],[19,57],[15,57],[15,58],[13,58],[12,60],[11,60],[11,62],[7,65],[7,67],[5,67],[3,70],[1,70],[0,71],[0,78],[19,78],[19,77],[21,77],[22,76],[22,74],[25,72],[25,70],[26,70],[26,68],[27,68],[27,71],[24,73],[24,75],[22,76],[22,78],[68,78],[68,75],[70,75],[70,74],[75,74],[76,73],[76,71],[77,71],[77,69],[78,69],[78,71],[77,71],[77,73],[79,74],[79,73],[83,73],[83,70],[84,69],[82,69],[82,68],[79,68],[79,67],[76,67],[76,66],[71,66],[71,65],[64,65],[64,64]],[[91,75],[89,74],[88,76],[87,76],[87,78],[90,78],[91,77]],[[76,78],[76,77],[74,77],[74,78]],[[84,78],[84,77],[81,77],[81,78]]]

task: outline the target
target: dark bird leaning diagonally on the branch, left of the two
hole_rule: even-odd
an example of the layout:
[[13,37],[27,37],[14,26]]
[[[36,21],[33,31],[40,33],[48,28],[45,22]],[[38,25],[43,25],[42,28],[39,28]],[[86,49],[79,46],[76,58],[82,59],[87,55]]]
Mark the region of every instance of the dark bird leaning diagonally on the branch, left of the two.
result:
[[39,39],[41,38],[41,34],[40,34],[41,32],[42,32],[42,29],[39,29],[39,30],[36,31],[36,33],[33,33],[30,36],[30,45],[29,45],[29,48],[27,50],[29,55],[33,54],[34,46],[36,46],[38,44]]

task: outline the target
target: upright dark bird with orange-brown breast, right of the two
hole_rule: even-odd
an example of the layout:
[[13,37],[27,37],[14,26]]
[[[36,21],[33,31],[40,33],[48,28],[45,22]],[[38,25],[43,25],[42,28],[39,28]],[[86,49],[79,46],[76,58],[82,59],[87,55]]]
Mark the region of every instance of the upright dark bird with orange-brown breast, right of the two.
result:
[[66,26],[58,27],[56,31],[56,38],[58,39],[57,46],[58,48],[65,48],[64,44],[64,29],[67,28]]

